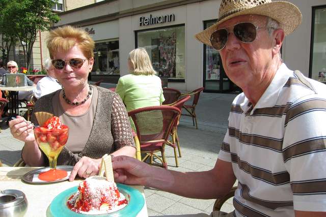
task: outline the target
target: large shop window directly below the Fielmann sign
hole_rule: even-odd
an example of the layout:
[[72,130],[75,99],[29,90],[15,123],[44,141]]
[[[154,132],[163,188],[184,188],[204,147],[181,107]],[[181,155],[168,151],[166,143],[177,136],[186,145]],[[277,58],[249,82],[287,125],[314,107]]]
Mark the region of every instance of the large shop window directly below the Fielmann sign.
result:
[[184,80],[184,25],[141,30],[136,37],[136,46],[146,49],[159,77]]

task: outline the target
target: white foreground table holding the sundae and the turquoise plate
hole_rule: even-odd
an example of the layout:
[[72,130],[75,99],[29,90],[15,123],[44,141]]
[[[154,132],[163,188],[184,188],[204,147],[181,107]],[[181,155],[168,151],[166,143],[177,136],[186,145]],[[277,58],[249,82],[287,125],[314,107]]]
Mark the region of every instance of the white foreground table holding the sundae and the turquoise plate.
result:
[[[83,179],[51,184],[28,184],[21,181],[21,177],[25,173],[37,168],[39,167],[0,167],[0,191],[7,189],[22,191],[29,203],[25,216],[44,217],[53,198],[66,189],[77,186]],[[131,187],[140,191],[145,199],[143,186],[131,185]],[[46,197],[44,192],[47,193]],[[146,200],[143,209],[137,217],[148,217]]]

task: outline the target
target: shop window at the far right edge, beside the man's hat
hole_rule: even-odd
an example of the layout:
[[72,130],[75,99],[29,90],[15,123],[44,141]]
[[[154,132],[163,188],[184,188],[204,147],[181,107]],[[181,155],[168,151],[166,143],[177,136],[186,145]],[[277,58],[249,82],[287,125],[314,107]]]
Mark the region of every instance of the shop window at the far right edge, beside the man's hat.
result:
[[312,79],[326,82],[326,6],[313,8],[312,31],[310,75]]

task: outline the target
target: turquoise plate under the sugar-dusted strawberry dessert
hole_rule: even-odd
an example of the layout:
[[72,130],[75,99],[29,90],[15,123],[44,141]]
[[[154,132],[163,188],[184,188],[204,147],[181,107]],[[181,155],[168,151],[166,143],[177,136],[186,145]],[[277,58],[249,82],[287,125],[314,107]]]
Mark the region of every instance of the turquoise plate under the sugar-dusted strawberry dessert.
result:
[[125,198],[128,200],[128,204],[124,208],[116,212],[112,212],[108,214],[89,215],[89,214],[82,214],[82,213],[71,211],[67,206],[67,201],[71,195],[73,195],[78,191],[76,186],[67,189],[66,191],[63,191],[57,197],[55,197],[55,199],[52,200],[47,210],[47,216],[48,217],[90,217],[90,216],[134,217],[137,216],[137,214],[142,210],[145,204],[143,195],[138,190],[131,188],[130,186],[125,184],[117,183],[117,187],[120,193],[122,193],[125,196]]

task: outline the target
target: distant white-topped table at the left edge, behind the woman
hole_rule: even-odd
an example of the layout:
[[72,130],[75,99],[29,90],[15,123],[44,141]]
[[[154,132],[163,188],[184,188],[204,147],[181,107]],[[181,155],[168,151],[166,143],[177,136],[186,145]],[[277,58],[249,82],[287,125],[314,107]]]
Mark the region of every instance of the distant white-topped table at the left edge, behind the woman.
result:
[[35,89],[36,86],[22,86],[22,87],[6,87],[0,86],[0,90],[8,90],[9,91],[9,112],[10,115],[16,115],[18,113],[18,91],[31,91]]

